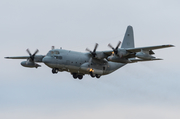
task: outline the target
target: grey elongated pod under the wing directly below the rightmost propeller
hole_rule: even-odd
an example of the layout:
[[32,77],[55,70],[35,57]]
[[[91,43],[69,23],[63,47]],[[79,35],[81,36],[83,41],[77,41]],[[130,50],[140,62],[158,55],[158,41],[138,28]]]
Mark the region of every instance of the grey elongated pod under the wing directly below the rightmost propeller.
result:
[[118,63],[131,63],[130,60],[125,59],[125,58],[120,58],[120,57],[118,57],[118,56],[116,56],[116,55],[114,55],[114,56],[109,56],[109,57],[107,58],[107,60],[108,60],[108,61],[111,61],[111,62],[118,62]]

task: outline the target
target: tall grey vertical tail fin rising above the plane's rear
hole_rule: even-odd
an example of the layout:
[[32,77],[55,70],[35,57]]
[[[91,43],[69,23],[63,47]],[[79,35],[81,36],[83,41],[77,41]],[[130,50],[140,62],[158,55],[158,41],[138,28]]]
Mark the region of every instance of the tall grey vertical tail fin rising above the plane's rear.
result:
[[134,34],[132,26],[128,26],[121,48],[134,48]]

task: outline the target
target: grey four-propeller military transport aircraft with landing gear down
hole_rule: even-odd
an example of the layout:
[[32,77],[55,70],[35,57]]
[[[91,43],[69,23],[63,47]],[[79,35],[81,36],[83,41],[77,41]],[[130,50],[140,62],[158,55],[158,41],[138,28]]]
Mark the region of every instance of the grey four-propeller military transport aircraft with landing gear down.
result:
[[52,49],[46,55],[36,55],[39,50],[31,54],[29,49],[27,52],[29,56],[19,57],[5,57],[7,59],[27,59],[21,62],[24,67],[38,68],[39,63],[44,63],[52,68],[52,73],[67,71],[70,72],[74,79],[82,79],[85,74],[91,77],[100,78],[102,75],[107,75],[115,70],[121,68],[128,63],[140,61],[154,61],[162,60],[152,56],[152,50],[173,47],[173,45],[158,45],[149,47],[134,48],[134,35],[132,26],[128,26],[121,48],[119,41],[114,48],[111,44],[108,46],[112,49],[110,51],[96,51],[98,44],[95,44],[94,50],[91,51],[86,48],[87,53],[75,52],[64,49]]

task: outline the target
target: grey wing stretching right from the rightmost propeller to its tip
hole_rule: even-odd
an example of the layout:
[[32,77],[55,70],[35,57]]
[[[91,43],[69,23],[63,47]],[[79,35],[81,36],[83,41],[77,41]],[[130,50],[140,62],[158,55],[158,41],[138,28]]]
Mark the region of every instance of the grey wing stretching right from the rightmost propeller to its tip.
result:
[[139,48],[127,48],[126,50],[129,52],[140,52],[141,50],[150,51],[161,48],[174,47],[174,45],[157,45],[157,46],[149,46],[149,47],[139,47]]

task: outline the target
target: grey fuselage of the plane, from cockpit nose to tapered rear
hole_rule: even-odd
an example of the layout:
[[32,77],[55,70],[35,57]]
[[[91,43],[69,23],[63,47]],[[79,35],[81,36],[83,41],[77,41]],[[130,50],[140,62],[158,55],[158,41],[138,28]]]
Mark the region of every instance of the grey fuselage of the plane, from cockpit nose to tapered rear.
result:
[[47,53],[42,62],[58,71],[81,75],[89,74],[91,71],[98,75],[106,75],[125,65],[125,63],[96,60],[90,55],[89,53],[54,49]]

